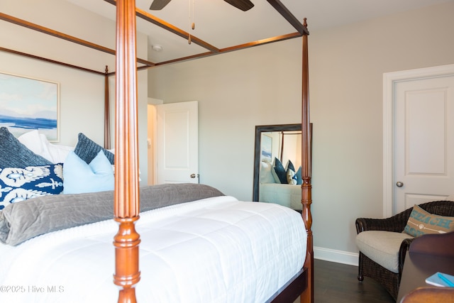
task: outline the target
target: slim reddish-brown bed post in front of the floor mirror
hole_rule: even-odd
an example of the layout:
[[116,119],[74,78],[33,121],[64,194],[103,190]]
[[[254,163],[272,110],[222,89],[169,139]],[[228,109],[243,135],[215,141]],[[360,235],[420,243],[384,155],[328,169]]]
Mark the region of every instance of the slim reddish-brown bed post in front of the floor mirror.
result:
[[[306,18],[304,27],[307,28]],[[303,210],[301,216],[307,232],[307,251],[304,267],[308,268],[307,290],[301,294],[301,303],[314,302],[314,242],[312,238],[312,215],[311,215],[311,121],[309,111],[309,50],[308,34],[303,34],[303,62],[302,62],[302,114],[301,114],[301,204]]]

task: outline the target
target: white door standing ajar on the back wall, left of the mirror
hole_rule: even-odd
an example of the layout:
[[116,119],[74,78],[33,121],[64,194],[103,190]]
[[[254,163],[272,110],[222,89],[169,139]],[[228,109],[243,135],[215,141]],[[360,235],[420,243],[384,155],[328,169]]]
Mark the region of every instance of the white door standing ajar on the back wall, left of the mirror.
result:
[[197,101],[156,106],[157,184],[199,183]]

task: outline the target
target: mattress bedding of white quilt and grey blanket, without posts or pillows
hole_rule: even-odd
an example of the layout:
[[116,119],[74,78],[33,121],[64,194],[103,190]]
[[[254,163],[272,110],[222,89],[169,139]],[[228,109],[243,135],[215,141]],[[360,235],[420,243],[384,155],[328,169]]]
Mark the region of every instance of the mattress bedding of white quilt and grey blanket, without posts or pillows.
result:
[[[6,207],[0,285],[10,288],[2,301],[114,302],[106,275],[118,228],[107,219],[113,197],[50,195]],[[296,211],[238,202],[203,184],[141,187],[140,201],[139,302],[265,302],[304,263],[306,234]]]

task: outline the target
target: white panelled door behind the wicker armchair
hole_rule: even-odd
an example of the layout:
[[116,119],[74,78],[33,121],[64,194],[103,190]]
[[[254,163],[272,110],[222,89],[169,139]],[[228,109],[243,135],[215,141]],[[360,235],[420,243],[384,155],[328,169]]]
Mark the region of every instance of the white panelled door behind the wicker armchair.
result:
[[454,194],[454,75],[394,84],[394,214]]

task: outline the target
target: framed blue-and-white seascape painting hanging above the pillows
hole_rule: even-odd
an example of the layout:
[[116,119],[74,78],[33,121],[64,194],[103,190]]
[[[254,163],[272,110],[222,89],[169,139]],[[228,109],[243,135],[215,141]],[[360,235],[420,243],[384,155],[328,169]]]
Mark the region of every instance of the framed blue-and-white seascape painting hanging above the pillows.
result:
[[16,137],[36,129],[59,141],[59,95],[57,82],[0,72],[0,126]]

